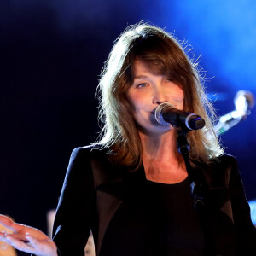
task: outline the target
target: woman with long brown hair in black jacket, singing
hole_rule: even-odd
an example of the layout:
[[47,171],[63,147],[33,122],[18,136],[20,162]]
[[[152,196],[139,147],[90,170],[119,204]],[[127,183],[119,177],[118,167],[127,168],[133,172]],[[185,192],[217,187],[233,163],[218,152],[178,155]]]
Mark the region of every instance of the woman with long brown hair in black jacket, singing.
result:
[[[91,231],[97,256],[256,255],[236,159],[218,143],[212,106],[183,46],[156,26],[129,26],[113,45],[97,92],[101,137],[73,150],[53,241],[4,216],[15,234],[2,240],[41,256],[83,256]],[[182,127],[155,119],[164,102],[206,122],[187,132],[189,165],[177,150]],[[202,187],[196,198],[193,186]]]

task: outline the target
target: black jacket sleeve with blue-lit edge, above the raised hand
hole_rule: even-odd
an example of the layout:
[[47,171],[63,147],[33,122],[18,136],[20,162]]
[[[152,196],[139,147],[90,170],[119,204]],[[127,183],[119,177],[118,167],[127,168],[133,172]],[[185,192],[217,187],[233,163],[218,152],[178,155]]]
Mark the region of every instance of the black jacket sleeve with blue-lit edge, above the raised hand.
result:
[[96,193],[89,155],[89,149],[75,148],[67,168],[53,228],[53,240],[61,256],[84,256],[84,247],[96,216]]

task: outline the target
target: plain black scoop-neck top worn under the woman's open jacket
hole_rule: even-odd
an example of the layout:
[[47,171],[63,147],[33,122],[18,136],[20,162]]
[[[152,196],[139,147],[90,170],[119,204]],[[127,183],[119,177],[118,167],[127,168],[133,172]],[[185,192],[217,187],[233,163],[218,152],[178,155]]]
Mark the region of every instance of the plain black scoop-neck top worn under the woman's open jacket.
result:
[[101,256],[203,254],[205,242],[189,178],[176,184],[154,183],[137,172],[126,185],[129,192],[108,226]]

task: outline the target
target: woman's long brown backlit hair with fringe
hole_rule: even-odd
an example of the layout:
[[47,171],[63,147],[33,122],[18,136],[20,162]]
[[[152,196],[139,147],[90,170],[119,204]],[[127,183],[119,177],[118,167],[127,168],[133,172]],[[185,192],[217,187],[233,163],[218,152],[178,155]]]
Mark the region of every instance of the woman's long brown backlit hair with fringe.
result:
[[121,165],[136,168],[142,164],[140,137],[127,99],[137,59],[154,73],[166,74],[182,84],[183,110],[197,113],[206,120],[202,130],[191,131],[187,136],[190,159],[207,163],[222,154],[223,148],[212,128],[214,111],[204,93],[197,63],[189,60],[183,45],[172,34],[147,23],[128,26],[114,42],[102,68],[97,93],[103,126],[99,141],[93,145],[108,148],[111,159]]

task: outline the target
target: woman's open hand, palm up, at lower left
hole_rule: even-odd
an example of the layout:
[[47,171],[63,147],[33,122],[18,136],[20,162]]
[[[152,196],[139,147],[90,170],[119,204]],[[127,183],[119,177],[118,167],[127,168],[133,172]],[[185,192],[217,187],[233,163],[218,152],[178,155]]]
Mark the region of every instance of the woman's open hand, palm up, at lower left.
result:
[[34,253],[38,256],[57,256],[55,242],[42,231],[23,224],[16,224],[10,218],[1,214],[0,223],[14,231],[13,234],[0,232],[0,241],[5,241],[25,253]]

